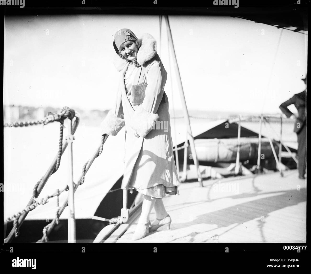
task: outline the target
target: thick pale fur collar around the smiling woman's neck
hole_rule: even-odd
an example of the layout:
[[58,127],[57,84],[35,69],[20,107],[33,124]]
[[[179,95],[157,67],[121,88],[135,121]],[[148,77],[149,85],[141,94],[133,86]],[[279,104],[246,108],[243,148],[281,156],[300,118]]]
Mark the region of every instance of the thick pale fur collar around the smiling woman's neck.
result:
[[[152,35],[144,33],[139,41],[142,45],[137,53],[137,63],[143,66],[156,55],[156,39]],[[113,63],[116,69],[121,71],[128,62],[115,54]]]

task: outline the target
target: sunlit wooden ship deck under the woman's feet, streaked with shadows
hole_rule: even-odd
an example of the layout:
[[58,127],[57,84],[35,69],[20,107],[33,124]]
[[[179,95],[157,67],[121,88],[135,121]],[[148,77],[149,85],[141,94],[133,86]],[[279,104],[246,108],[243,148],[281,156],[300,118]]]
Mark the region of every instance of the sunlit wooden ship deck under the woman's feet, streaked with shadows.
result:
[[206,180],[204,188],[182,183],[179,196],[163,199],[170,230],[162,227],[132,241],[137,218],[116,243],[303,243],[305,188],[297,170],[285,171],[284,177],[275,172]]

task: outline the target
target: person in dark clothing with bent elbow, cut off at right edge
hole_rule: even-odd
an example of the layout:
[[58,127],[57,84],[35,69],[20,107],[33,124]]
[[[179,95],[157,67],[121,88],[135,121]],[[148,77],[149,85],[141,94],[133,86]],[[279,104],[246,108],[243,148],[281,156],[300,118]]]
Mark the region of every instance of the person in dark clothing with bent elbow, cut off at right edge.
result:
[[[307,86],[307,75],[305,78],[301,79]],[[294,104],[298,110],[298,116],[293,114],[287,107]],[[304,174],[306,170],[306,139],[307,139],[307,88],[295,94],[292,98],[282,103],[279,107],[287,118],[294,116],[296,118],[294,132],[297,133],[298,138],[298,172],[299,179],[304,179]]]

